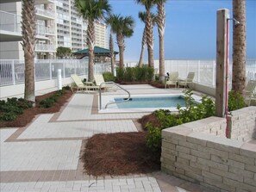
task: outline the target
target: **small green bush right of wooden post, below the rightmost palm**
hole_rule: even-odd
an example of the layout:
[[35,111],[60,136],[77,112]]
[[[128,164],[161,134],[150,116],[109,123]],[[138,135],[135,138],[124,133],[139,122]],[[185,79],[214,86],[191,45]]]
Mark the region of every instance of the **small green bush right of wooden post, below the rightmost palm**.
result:
[[240,92],[231,90],[228,92],[228,111],[234,111],[246,107],[244,97]]

